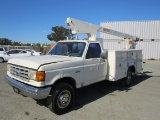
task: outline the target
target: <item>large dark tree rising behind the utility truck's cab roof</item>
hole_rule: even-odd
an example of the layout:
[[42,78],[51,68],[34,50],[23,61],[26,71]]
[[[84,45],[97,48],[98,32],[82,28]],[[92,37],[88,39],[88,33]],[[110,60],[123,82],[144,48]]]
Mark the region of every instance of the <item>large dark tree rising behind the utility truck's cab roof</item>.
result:
[[71,32],[70,29],[66,29],[62,26],[55,26],[55,27],[52,27],[52,33],[51,34],[48,34],[47,35],[47,38],[52,41],[59,41],[59,40],[64,40],[66,39],[67,37],[69,39],[73,39],[73,34]]

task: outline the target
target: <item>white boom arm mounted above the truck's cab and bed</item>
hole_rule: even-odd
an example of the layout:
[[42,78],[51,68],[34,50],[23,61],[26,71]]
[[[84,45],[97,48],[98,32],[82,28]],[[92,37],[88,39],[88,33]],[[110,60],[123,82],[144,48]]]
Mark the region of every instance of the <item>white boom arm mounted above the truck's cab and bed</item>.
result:
[[[136,36],[132,36],[126,33],[122,33],[122,32],[108,29],[108,28],[100,27],[100,26],[97,26],[91,23],[87,23],[84,21],[76,20],[73,18],[67,18],[66,25],[70,27],[70,29],[72,30],[72,34],[87,34],[89,40],[90,39],[96,40],[97,32],[103,32],[103,33],[115,35],[118,37],[122,37],[124,39],[131,39],[132,41],[135,41],[138,39]],[[134,48],[133,44],[132,44],[132,48]]]

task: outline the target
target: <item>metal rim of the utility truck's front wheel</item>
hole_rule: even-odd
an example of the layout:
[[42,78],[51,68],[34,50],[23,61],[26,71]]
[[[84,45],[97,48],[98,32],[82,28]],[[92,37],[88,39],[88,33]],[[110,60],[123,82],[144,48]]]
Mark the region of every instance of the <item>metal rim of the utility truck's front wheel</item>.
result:
[[64,90],[58,95],[57,104],[60,108],[66,108],[70,101],[71,93],[68,90]]

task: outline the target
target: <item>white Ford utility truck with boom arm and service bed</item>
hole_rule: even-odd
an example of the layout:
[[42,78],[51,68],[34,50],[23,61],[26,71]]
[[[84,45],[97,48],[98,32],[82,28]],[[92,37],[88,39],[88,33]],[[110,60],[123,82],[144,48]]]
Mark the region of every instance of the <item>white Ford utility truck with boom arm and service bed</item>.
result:
[[[66,25],[73,34],[87,34],[88,40],[59,41],[47,55],[11,59],[5,76],[16,93],[47,98],[49,109],[56,114],[69,111],[77,88],[122,78],[130,85],[132,74],[142,69],[142,50],[134,49],[135,36],[73,18],[67,18]],[[97,31],[125,38],[126,48],[104,50]]]

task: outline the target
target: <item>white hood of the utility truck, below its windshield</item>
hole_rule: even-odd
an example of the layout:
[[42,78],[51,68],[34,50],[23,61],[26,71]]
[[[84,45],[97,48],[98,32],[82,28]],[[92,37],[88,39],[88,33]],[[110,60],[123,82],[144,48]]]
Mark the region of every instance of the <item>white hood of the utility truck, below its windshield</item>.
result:
[[8,63],[38,69],[40,65],[75,60],[69,56],[43,55],[10,59]]

